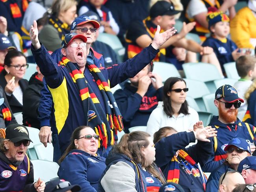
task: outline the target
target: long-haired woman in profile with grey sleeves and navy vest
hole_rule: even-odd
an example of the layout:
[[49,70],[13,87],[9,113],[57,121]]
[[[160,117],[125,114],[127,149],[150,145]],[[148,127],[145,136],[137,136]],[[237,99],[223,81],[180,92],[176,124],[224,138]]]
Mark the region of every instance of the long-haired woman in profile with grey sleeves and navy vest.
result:
[[166,181],[154,160],[154,143],[148,133],[124,134],[106,159],[107,168],[100,179],[98,192],[159,191]]

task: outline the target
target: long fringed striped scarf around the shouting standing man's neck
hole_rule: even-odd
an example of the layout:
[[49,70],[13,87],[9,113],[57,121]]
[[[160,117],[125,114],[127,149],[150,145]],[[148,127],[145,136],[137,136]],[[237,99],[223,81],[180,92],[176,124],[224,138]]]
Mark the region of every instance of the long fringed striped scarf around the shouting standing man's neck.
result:
[[122,131],[124,126],[122,124],[121,113],[105,77],[96,65],[87,61],[86,67],[90,70],[100,89],[100,93],[104,99],[106,113],[90,84],[87,83],[83,72],[78,70],[67,57],[62,58],[60,65],[67,67],[74,84],[80,92],[83,110],[88,111],[86,114],[87,124],[90,127],[94,127],[95,133],[100,136],[98,147],[102,145],[104,148],[107,148],[107,146],[113,145],[115,142],[114,134],[117,135],[117,131]]

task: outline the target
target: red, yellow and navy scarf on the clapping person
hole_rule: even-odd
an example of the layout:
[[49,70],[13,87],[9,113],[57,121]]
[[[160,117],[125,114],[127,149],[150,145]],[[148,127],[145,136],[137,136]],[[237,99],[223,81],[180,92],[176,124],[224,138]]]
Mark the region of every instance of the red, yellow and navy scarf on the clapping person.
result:
[[[200,175],[200,171],[199,171],[197,163],[184,150],[180,150],[178,156],[182,160],[187,161],[187,163],[184,163],[184,161],[182,161],[182,160],[180,161],[186,167],[186,171],[188,171],[187,174],[192,174],[194,177],[201,178],[202,184],[204,187],[204,191],[205,191],[207,178],[206,178],[206,175]],[[190,173],[190,171],[191,171],[191,173]],[[169,165],[167,182],[179,183],[179,179],[180,179],[179,163],[178,163],[178,159],[174,156],[171,159],[171,163]]]

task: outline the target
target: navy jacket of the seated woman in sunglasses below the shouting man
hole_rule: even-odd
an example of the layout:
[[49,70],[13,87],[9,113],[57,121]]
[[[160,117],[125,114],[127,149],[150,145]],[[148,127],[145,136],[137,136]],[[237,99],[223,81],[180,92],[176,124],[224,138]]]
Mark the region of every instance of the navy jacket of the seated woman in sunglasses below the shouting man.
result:
[[96,192],[98,180],[106,168],[106,159],[82,150],[72,150],[59,166],[58,176],[71,185],[80,185],[83,191]]

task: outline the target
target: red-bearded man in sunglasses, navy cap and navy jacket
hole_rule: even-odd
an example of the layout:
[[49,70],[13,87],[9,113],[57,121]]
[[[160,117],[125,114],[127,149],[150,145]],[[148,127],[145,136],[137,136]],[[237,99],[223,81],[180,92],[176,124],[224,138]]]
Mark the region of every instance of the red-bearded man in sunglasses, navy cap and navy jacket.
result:
[[255,150],[256,128],[237,118],[238,108],[243,99],[239,98],[237,91],[231,85],[223,85],[215,92],[214,104],[218,108],[219,116],[213,116],[210,126],[216,128],[218,135],[212,138],[213,152],[204,165],[204,172],[212,172],[227,158],[225,146],[235,137],[241,137],[250,144],[251,151]]

